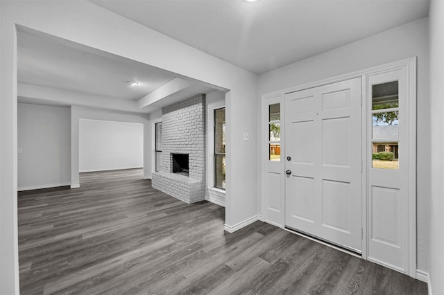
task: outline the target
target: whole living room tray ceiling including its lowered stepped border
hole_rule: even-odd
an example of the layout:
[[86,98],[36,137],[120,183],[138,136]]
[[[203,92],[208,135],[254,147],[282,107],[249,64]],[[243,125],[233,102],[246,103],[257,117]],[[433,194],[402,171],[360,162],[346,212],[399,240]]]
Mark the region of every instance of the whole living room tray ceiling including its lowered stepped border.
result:
[[[167,95],[151,95],[149,105],[147,103],[141,107],[137,104],[138,100],[167,87],[175,80],[186,83],[182,83],[182,87],[176,87],[174,91],[163,91]],[[156,111],[196,94],[215,90],[203,84],[185,81],[174,73],[154,66],[37,33],[28,28],[19,28],[17,32],[17,82],[19,102],[94,106],[92,100],[100,98],[100,107],[141,113]],[[131,86],[128,82],[138,84]],[[31,95],[21,96],[24,89],[27,90],[25,93],[31,92]],[[33,91],[40,93],[42,89],[72,99],[64,101],[33,96]],[[76,98],[83,98],[83,102]],[[85,104],[85,99],[91,103]],[[128,107],[122,109],[121,104],[116,103],[119,100],[130,100],[132,103],[126,103]]]

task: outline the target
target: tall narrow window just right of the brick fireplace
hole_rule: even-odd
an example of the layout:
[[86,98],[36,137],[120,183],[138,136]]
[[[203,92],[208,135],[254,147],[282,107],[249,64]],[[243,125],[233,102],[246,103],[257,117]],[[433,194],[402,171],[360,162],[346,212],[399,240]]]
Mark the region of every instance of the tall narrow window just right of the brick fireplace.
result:
[[225,190],[225,107],[214,110],[214,186]]

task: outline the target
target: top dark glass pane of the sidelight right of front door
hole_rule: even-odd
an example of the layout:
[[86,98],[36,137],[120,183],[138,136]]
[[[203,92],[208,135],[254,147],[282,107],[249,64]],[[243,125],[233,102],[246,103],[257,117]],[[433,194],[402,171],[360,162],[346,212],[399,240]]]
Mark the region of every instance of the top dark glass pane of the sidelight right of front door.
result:
[[398,81],[372,86],[372,109],[399,107]]

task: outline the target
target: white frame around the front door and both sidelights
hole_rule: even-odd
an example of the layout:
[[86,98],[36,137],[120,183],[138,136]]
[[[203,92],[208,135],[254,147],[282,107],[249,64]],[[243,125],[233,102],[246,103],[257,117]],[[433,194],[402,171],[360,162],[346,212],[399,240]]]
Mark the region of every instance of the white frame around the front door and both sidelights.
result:
[[[294,91],[300,91],[304,89],[314,88],[318,86],[322,86],[325,84],[332,84],[334,82],[340,82],[343,80],[349,80],[352,78],[358,78],[361,77],[362,79],[362,147],[367,146],[367,138],[368,138],[368,130],[367,130],[367,122],[368,122],[368,110],[367,110],[367,75],[372,75],[375,73],[384,73],[385,71],[393,71],[393,69],[404,69],[406,75],[407,75],[407,84],[409,85],[409,89],[407,91],[407,118],[409,120],[407,122],[404,122],[403,124],[408,130],[408,142],[407,145],[409,145],[409,154],[407,154],[408,159],[414,159],[414,161],[409,161],[409,166],[407,166],[407,175],[408,175],[408,181],[407,181],[407,195],[408,195],[408,202],[409,202],[409,242],[408,242],[408,261],[407,261],[407,268],[406,268],[406,274],[408,276],[411,276],[413,278],[416,278],[416,57],[411,57],[405,60],[399,60],[397,62],[390,62],[388,64],[382,64],[379,66],[373,66],[368,69],[363,69],[360,71],[355,71],[352,73],[345,73],[343,75],[337,75],[331,78],[318,80],[315,82],[309,82],[305,84],[300,84],[298,86],[289,87],[286,89],[280,89],[278,91],[273,91],[270,93],[265,93],[262,95],[262,118],[261,118],[261,152],[260,154],[260,163],[262,168],[261,173],[261,184],[260,184],[260,191],[261,191],[261,197],[262,197],[262,221],[273,224],[275,226],[280,226],[282,229],[285,229],[284,225],[284,213],[282,213],[282,217],[280,220],[267,220],[266,214],[265,214],[265,204],[266,204],[266,197],[268,197],[266,194],[265,188],[265,181],[266,181],[266,159],[268,159],[268,147],[266,147],[266,144],[268,144],[267,141],[267,131],[266,126],[268,127],[268,109],[266,108],[266,103],[270,98],[280,98],[281,103],[281,122],[284,122],[285,118],[285,100],[284,100],[284,94]],[[281,125],[281,128],[284,128],[284,126]],[[281,130],[282,134],[282,130]],[[284,168],[285,168],[285,162],[283,161],[285,157],[285,137],[282,136],[281,138],[281,170],[282,170],[282,177],[284,177]],[[363,151],[363,161],[362,161],[362,229],[363,229],[363,238],[362,238],[362,258],[364,260],[367,260],[367,249],[368,249],[368,232],[367,232],[367,223],[368,223],[368,211],[367,211],[367,202],[368,202],[368,165],[365,161],[370,157],[370,151],[368,148],[365,148]],[[282,187],[281,191],[284,192],[284,181],[282,181]],[[284,193],[282,193],[280,196],[280,202],[284,206]],[[330,244],[327,244],[327,246],[332,247]],[[336,247],[334,247],[336,248]],[[338,249],[338,248],[336,248]],[[343,251],[342,249],[339,249]]]

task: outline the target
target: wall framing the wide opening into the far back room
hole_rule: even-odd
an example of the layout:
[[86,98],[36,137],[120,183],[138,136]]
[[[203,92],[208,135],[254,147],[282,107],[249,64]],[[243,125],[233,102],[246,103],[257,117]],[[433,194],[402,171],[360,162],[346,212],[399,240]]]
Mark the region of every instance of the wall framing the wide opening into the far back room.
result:
[[[92,107],[71,107],[71,188],[80,186],[80,120],[99,120],[143,125],[143,167],[144,178],[151,178],[151,128],[148,114],[111,111]],[[84,138],[85,139],[85,138]],[[83,151],[84,152],[84,151]],[[103,162],[101,163],[105,165]],[[101,166],[103,168],[103,165]],[[111,167],[111,166],[108,166]]]

